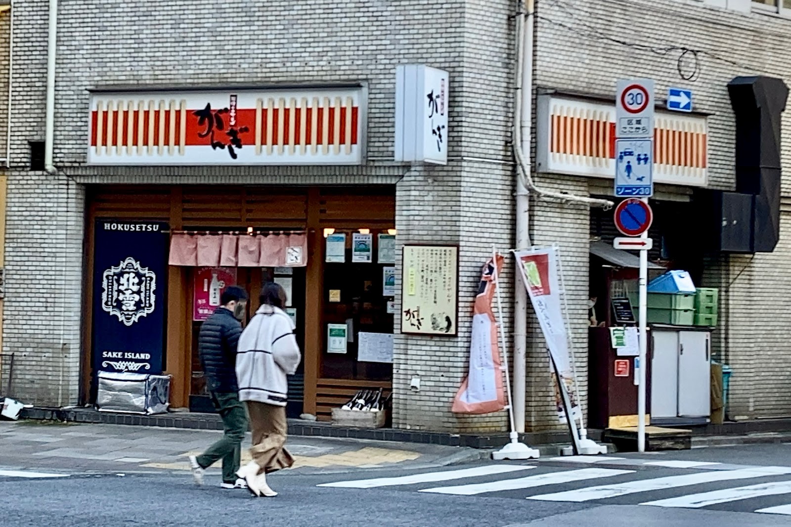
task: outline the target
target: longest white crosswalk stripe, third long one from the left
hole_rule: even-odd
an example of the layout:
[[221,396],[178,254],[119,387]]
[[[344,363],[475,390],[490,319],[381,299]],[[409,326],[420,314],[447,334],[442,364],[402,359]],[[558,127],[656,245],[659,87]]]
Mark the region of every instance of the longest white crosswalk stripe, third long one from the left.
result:
[[589,502],[594,499],[615,498],[637,492],[660,491],[668,488],[688,487],[699,483],[712,483],[714,481],[747,480],[766,476],[791,474],[789,467],[756,467],[742,468],[740,470],[725,470],[716,472],[699,472],[684,474],[682,476],[666,476],[653,480],[638,480],[613,485],[598,485],[585,487],[573,491],[563,491],[554,494],[536,495],[528,499],[549,502]]

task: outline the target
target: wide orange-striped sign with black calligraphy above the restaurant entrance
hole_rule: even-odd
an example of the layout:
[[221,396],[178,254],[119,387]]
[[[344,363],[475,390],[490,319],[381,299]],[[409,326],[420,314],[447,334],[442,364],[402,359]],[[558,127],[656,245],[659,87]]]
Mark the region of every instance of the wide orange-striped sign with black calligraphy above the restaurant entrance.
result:
[[358,165],[361,89],[97,93],[93,165]]

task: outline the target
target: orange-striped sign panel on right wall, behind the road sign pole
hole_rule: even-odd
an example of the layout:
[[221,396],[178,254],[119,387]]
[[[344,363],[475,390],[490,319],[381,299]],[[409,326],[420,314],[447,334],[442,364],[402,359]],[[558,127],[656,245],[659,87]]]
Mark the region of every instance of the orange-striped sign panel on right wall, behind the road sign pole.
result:
[[[615,177],[615,104],[542,96],[537,113],[539,172]],[[705,187],[706,118],[657,111],[654,124],[654,181]]]

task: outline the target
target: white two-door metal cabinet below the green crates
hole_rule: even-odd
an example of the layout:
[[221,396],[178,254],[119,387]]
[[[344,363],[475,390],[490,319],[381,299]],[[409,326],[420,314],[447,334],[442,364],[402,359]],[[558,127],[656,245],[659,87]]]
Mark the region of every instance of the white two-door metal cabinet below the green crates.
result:
[[683,328],[653,328],[651,417],[709,417],[709,332]]

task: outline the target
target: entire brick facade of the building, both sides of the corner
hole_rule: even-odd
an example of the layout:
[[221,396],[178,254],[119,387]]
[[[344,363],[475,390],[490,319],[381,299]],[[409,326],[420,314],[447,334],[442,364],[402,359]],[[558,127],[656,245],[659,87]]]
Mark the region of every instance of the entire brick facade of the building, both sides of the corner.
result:
[[[480,267],[493,245],[513,246],[511,123],[514,16],[517,2],[454,0],[441,6],[414,0],[293,2],[232,0],[221,7],[181,0],[62,4],[55,92],[54,174],[30,169],[31,142],[44,140],[47,2],[14,2],[11,149],[6,210],[6,299],[2,351],[15,353],[15,394],[39,406],[85,403],[85,268],[89,255],[86,196],[108,185],[395,186],[396,261],[404,244],[460,247],[459,334],[399,334],[395,318],[393,424],[422,430],[502,430],[505,415],[459,416],[452,396],[467,370],[470,302]],[[780,73],[791,66],[782,47],[789,20],[766,10],[745,11],[696,0],[536,2],[536,95],[573,94],[613,100],[615,80],[650,77],[657,96],[685,83],[708,123],[710,188],[733,188],[734,121],[727,83],[744,74]],[[741,2],[744,4],[744,2]],[[749,4],[750,2],[747,2]],[[753,2],[757,3],[757,2]],[[645,20],[644,24],[633,21]],[[2,19],[6,23],[8,17]],[[628,32],[622,28],[635,27]],[[5,26],[4,26],[5,27]],[[683,34],[677,28],[684,27]],[[4,32],[4,35],[7,33]],[[0,79],[7,78],[0,40]],[[689,49],[679,61],[679,55]],[[652,52],[653,50],[653,52]],[[689,62],[691,60],[691,62]],[[694,61],[697,60],[696,64]],[[395,66],[425,63],[448,70],[448,165],[393,161]],[[699,67],[694,82],[677,68]],[[366,160],[359,166],[115,167],[86,164],[89,90],[365,83]],[[2,89],[2,80],[0,80]],[[2,99],[2,97],[0,97]],[[0,105],[2,111],[2,105]],[[788,123],[789,116],[785,116]],[[0,119],[2,123],[2,119]],[[786,127],[787,128],[787,127]],[[540,131],[536,131],[540,133]],[[788,139],[784,135],[784,145]],[[791,157],[783,158],[789,166]],[[791,168],[791,167],[789,167]],[[606,180],[560,174],[536,176],[539,186],[577,195],[611,195]],[[689,199],[683,186],[657,188]],[[785,415],[789,351],[782,305],[791,279],[788,178],[783,182],[782,241],[775,252],[707,260],[706,286],[722,290],[715,351],[734,369],[731,415]],[[533,201],[531,237],[561,246],[566,293],[586,397],[589,243],[587,207]],[[513,282],[506,265],[505,282]],[[400,280],[400,273],[398,274]],[[396,290],[400,290],[399,286]],[[510,299],[512,287],[503,290]],[[395,302],[398,305],[399,294]],[[754,304],[755,302],[755,304]],[[512,309],[506,302],[506,332]],[[773,308],[774,309],[774,308]],[[532,317],[532,314],[529,316]],[[785,317],[785,318],[784,318]],[[532,318],[528,319],[532,320]],[[558,428],[547,358],[530,323],[528,429]],[[766,368],[773,364],[772,368]],[[777,367],[782,366],[782,367]],[[412,377],[422,388],[409,388]]]

